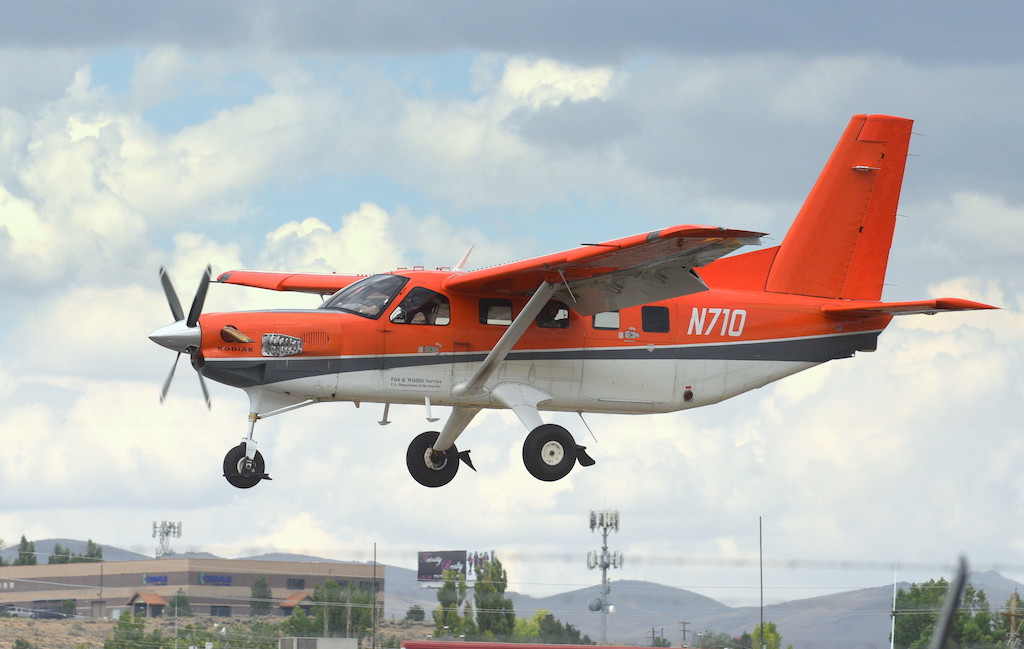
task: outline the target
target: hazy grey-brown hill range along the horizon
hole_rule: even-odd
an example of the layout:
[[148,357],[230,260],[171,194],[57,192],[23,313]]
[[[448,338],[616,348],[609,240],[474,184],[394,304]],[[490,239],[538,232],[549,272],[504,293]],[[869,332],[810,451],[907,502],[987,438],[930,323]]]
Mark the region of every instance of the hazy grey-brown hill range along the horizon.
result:
[[[60,544],[73,552],[84,553],[85,542],[67,538],[49,538],[35,542],[39,562],[46,563],[53,547]],[[145,555],[102,546],[103,559],[108,561],[133,561],[152,559]],[[0,553],[8,562],[17,557],[17,548]],[[188,553],[175,557],[214,557],[208,553]],[[305,555],[267,554],[245,557],[264,561],[325,561]],[[437,607],[437,591],[424,588],[417,581],[416,570],[382,565],[385,578],[384,617],[401,620],[410,607],[419,605],[430,612]],[[943,576],[943,575],[937,575]],[[969,580],[976,589],[985,591],[991,610],[998,610],[1015,589],[1024,586],[996,572],[972,572]],[[901,582],[906,589],[909,583]],[[531,597],[508,593],[518,617],[532,617],[539,610],[552,613],[562,622],[570,623],[583,634],[598,640],[601,615],[589,610],[588,604],[597,597],[599,586],[579,589],[550,597]],[[842,639],[850,649],[887,649],[891,622],[892,586],[860,589],[846,593],[825,595],[765,607],[765,619],[778,624],[783,643],[796,649],[824,649]],[[711,598],[659,583],[636,580],[618,580],[611,585],[611,600],[615,612],[608,616],[607,640],[610,643],[650,646],[651,631],[662,635],[674,646],[681,640],[680,622],[685,620],[689,630],[688,640],[696,645],[697,632],[713,631],[739,636],[752,631],[759,622],[761,611],[757,607],[730,607]]]

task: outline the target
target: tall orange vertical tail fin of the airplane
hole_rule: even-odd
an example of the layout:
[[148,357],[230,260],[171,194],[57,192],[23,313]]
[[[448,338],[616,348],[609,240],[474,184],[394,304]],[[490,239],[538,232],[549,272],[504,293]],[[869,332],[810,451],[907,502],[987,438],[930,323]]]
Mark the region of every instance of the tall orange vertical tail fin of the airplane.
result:
[[913,122],[858,115],[779,246],[766,290],[878,300]]

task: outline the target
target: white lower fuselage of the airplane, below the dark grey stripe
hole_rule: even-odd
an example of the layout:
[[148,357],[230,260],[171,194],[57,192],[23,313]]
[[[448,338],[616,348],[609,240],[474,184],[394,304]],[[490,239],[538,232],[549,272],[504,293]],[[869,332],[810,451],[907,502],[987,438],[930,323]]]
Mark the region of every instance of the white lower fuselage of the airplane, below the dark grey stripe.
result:
[[[749,344],[716,347],[734,347],[733,351],[738,352],[745,345]],[[517,384],[549,395],[538,404],[542,410],[648,414],[717,403],[826,360],[700,357],[712,356],[715,352],[699,353],[700,346],[692,347],[639,348],[627,354],[607,350],[517,351],[502,364],[484,390],[467,397],[454,396],[453,389],[471,377],[480,361],[461,361],[457,354],[372,359],[266,359],[266,374],[275,380],[246,389],[275,393],[280,398],[273,401],[279,403],[282,400],[315,400],[422,404],[429,400],[433,405],[486,408],[503,407],[493,398],[493,388]],[[667,357],[674,355],[684,357]],[[843,355],[852,355],[852,352]],[[218,364],[217,361],[208,362],[204,374],[216,378]],[[331,365],[367,364],[388,366],[330,372]],[[321,374],[319,369],[326,372]],[[315,374],[309,376],[310,373]],[[299,376],[290,379],[289,375]]]

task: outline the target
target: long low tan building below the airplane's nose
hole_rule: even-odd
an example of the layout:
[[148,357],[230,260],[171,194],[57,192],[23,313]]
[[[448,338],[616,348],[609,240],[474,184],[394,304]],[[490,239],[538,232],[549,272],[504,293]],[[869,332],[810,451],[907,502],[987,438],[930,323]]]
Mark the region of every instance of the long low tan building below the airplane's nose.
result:
[[[376,572],[376,574],[375,574]],[[313,561],[169,558],[144,561],[62,563],[0,567],[0,606],[40,615],[74,601],[79,615],[117,617],[124,611],[146,616],[173,614],[181,591],[197,615],[248,615],[252,588],[262,577],[270,587],[270,610],[291,615],[311,604],[313,590],[333,579],[371,589],[384,602],[384,566]]]

